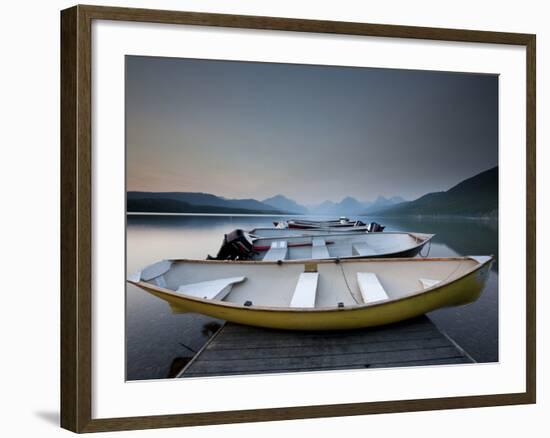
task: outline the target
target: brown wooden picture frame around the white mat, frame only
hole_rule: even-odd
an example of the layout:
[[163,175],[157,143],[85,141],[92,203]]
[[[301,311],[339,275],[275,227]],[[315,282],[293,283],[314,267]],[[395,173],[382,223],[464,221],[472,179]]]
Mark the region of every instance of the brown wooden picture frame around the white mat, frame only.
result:
[[[194,414],[92,418],[92,22],[115,20],[518,45],[526,48],[527,284],[524,393]],[[61,12],[61,426],[74,432],[535,403],[535,35],[290,18],[75,6]]]

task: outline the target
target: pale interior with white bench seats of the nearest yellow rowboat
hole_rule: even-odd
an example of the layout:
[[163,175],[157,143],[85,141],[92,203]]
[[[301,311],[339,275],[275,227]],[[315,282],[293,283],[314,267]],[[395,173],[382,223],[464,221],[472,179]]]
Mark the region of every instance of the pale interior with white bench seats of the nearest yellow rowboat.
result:
[[244,306],[314,309],[375,304],[422,293],[482,262],[468,257],[282,264],[182,260],[159,262],[138,278],[176,295]]

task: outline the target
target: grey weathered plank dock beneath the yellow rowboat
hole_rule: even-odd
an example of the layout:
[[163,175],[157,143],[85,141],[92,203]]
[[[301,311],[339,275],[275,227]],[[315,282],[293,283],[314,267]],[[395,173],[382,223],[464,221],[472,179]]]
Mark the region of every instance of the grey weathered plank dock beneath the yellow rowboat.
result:
[[426,316],[350,331],[271,330],[226,323],[178,377],[472,363]]

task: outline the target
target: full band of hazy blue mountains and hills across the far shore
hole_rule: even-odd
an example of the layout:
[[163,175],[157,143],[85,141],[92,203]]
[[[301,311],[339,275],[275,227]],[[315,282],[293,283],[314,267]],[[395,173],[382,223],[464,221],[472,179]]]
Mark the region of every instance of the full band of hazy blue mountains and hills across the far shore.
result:
[[210,193],[128,192],[129,212],[220,213],[220,214],[310,214],[330,216],[496,216],[498,212],[498,167],[481,172],[445,192],[428,193],[413,201],[399,196],[378,196],[374,201],[345,197],[301,205],[284,195],[258,201],[227,199]]

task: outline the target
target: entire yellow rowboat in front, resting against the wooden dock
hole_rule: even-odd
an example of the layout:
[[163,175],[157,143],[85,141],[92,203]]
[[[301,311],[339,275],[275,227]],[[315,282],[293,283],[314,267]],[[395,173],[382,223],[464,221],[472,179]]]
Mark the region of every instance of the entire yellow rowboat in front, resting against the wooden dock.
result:
[[128,282],[238,324],[340,330],[390,324],[480,296],[491,256],[254,262],[164,260]]

